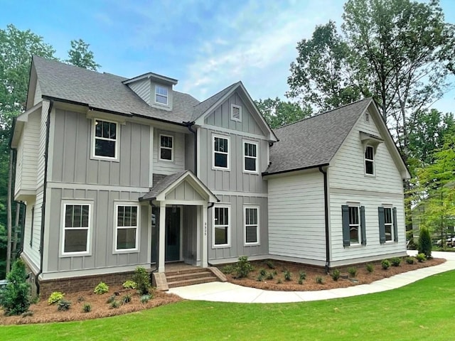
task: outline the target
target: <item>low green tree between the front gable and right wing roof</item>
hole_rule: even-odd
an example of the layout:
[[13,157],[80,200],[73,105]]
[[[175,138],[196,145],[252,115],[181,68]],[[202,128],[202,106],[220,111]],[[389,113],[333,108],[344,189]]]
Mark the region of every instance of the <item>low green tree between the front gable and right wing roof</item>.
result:
[[311,116],[311,107],[306,106],[302,109],[299,104],[282,102],[278,97],[259,99],[259,101],[255,101],[255,104],[272,129]]

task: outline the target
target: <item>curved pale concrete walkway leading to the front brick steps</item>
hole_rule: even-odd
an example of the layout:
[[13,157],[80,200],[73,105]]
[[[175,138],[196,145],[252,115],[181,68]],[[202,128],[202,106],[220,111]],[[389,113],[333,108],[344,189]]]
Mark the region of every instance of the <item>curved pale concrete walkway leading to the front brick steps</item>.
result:
[[[414,256],[417,251],[408,251]],[[370,284],[336,288],[321,291],[266,291],[257,288],[237,286],[232,283],[212,282],[172,288],[168,293],[175,293],[181,298],[193,301],[235,302],[235,303],[289,303],[328,300],[349,296],[379,293],[419,281],[419,279],[455,269],[455,252],[432,252],[435,258],[444,258],[444,264],[429,268],[408,271]]]

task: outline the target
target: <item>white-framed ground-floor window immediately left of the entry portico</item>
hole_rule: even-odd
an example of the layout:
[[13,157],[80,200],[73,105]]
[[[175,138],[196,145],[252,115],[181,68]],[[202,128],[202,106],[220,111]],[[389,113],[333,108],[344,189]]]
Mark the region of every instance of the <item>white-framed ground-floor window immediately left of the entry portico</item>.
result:
[[138,205],[115,205],[115,251],[138,250]]

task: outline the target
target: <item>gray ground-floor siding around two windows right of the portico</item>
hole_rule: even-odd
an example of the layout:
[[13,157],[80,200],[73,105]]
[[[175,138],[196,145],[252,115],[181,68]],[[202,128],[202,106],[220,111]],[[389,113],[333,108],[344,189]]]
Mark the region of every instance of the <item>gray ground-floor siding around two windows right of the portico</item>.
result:
[[[230,247],[213,247],[213,208],[208,210],[208,259],[223,259],[238,256],[255,256],[269,251],[267,229],[267,198],[219,195],[220,205],[230,207]],[[259,245],[244,245],[244,205],[259,206]]]

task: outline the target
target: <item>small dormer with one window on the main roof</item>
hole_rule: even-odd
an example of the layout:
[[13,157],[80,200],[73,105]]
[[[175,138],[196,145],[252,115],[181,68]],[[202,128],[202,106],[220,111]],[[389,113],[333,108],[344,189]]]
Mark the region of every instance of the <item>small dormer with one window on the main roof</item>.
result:
[[144,75],[124,80],[123,84],[128,85],[150,107],[172,110],[173,86],[177,82],[173,78],[148,72]]

